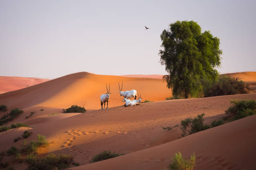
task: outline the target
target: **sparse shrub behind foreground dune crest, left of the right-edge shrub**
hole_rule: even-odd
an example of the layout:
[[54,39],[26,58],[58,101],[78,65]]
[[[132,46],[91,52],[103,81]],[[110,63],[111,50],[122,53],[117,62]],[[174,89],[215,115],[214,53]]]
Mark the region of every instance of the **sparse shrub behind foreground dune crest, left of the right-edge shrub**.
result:
[[200,132],[202,130],[209,129],[210,126],[205,124],[204,125],[204,119],[203,116],[205,114],[197,115],[194,119],[187,118],[185,120],[181,121],[181,130],[182,130],[182,137]]

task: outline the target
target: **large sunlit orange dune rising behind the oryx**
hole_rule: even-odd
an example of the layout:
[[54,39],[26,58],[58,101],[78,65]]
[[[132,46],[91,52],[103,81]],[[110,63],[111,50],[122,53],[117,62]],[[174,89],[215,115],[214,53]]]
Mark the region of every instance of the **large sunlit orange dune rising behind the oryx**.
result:
[[123,105],[123,97],[118,93],[118,81],[123,81],[123,90],[136,89],[143,100],[165,100],[172,96],[163,80],[152,78],[134,78],[110,75],[95,75],[79,72],[66,75],[48,82],[27,87],[15,92],[0,95],[0,103],[13,107],[63,107],[84,106],[86,109],[100,109],[100,95],[106,92],[106,83],[110,83],[109,106]]

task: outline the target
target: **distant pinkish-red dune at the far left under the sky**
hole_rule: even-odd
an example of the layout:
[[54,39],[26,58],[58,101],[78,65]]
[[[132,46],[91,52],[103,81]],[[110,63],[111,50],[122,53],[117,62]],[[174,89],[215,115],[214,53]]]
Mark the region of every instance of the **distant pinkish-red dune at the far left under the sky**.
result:
[[40,84],[50,79],[0,76],[0,94]]

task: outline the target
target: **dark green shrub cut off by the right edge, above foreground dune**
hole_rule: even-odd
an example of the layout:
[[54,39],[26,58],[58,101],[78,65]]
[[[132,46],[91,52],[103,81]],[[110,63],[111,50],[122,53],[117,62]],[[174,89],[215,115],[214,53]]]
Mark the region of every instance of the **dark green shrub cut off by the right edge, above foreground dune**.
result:
[[238,120],[256,114],[255,100],[231,100],[230,103],[233,105],[225,110],[225,113],[232,117],[231,120]]

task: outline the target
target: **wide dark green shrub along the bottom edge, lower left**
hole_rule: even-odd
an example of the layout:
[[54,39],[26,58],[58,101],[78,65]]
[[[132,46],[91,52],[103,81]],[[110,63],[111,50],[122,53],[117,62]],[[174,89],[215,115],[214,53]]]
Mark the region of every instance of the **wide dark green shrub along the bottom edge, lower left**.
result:
[[46,158],[38,158],[37,155],[29,154],[27,155],[26,162],[28,163],[27,170],[51,170],[57,168],[58,170],[63,170],[68,168],[69,165],[74,163],[74,158],[69,155],[55,155],[50,153]]

